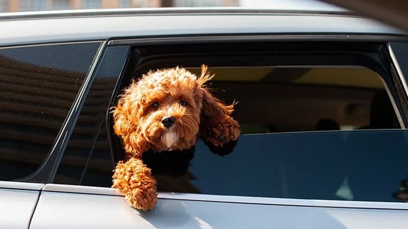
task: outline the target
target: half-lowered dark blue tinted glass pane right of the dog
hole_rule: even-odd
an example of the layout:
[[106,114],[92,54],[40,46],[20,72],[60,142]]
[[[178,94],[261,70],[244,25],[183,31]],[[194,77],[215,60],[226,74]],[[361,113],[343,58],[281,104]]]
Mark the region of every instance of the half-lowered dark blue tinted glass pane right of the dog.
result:
[[393,194],[408,175],[407,140],[405,130],[248,134],[223,157],[199,141],[188,173],[159,179],[158,186],[203,194],[397,202]]

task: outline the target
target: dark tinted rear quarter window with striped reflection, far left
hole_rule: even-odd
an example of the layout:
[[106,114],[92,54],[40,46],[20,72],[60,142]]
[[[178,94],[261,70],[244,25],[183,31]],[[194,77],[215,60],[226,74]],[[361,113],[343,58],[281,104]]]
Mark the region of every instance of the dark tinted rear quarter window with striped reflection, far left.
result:
[[0,49],[0,180],[33,173],[51,149],[99,43]]

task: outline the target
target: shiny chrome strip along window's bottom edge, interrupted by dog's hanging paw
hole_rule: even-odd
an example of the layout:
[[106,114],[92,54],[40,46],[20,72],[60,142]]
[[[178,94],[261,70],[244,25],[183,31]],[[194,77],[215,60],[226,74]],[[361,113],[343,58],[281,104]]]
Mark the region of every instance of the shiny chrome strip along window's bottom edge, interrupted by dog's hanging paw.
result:
[[[96,195],[123,195],[113,188],[46,184],[42,191],[64,192],[70,194],[96,194]],[[222,202],[236,204],[260,204],[260,205],[283,205],[299,207],[329,207],[329,208],[359,208],[359,209],[390,209],[408,210],[406,203],[393,202],[365,202],[365,201],[331,201],[324,199],[293,199],[293,198],[272,198],[272,197],[252,197],[252,196],[231,196],[231,195],[209,195],[193,193],[159,192],[159,199],[174,199],[178,201],[205,201]]]

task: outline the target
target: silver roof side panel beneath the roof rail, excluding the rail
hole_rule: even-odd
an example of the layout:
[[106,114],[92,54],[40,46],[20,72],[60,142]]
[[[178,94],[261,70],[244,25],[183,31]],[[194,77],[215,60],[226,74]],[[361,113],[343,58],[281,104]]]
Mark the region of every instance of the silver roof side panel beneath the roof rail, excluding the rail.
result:
[[191,34],[403,34],[366,18],[317,14],[296,17],[291,14],[197,14],[14,19],[0,20],[0,31],[7,31],[0,37],[0,46]]

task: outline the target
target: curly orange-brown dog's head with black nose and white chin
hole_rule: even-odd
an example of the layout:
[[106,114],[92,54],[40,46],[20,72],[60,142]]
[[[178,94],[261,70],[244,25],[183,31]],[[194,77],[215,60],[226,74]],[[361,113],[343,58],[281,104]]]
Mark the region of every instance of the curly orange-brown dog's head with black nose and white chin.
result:
[[125,151],[140,156],[149,149],[189,149],[200,129],[231,115],[233,105],[224,105],[206,88],[212,77],[203,65],[199,77],[176,67],[132,81],[113,110],[114,130]]

